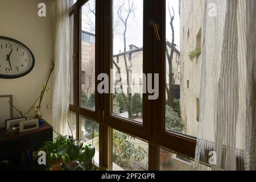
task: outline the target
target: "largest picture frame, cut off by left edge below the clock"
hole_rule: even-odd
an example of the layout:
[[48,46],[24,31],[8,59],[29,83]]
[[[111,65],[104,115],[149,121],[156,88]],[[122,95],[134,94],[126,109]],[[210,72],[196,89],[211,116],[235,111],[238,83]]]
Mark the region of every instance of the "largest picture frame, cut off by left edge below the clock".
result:
[[13,103],[13,96],[0,96],[0,129],[5,128],[6,119],[13,118],[13,107],[8,101]]

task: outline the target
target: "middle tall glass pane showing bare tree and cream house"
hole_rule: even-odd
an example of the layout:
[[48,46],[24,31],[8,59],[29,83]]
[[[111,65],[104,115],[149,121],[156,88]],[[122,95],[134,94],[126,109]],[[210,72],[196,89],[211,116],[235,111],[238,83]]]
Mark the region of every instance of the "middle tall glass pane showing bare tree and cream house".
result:
[[143,0],[113,0],[112,68],[112,114],[142,123]]

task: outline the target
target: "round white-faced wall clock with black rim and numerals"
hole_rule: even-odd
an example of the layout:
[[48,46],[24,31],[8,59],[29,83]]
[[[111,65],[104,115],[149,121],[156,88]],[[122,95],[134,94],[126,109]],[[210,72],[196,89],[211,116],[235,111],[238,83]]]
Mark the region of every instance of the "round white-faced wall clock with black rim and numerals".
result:
[[35,57],[18,40],[0,36],[0,78],[19,78],[32,71]]

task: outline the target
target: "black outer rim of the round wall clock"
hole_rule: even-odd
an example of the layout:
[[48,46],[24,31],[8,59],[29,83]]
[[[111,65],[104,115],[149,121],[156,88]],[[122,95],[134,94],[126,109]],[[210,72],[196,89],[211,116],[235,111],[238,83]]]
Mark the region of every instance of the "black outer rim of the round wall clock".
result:
[[13,41],[13,42],[16,42],[18,44],[20,44],[21,46],[25,47],[26,49],[28,49],[28,52],[30,52],[31,56],[32,56],[32,65],[30,67],[30,69],[28,69],[28,71],[20,74],[20,75],[17,75],[17,76],[13,76],[13,75],[2,75],[0,74],[0,78],[4,78],[4,79],[14,79],[14,78],[20,78],[20,77],[23,77],[23,76],[26,76],[28,73],[30,73],[32,71],[32,69],[34,68],[35,66],[35,57],[32,53],[32,51],[30,50],[30,48],[28,48],[25,44],[19,42],[18,40],[15,40],[13,38],[7,38],[6,36],[0,36],[0,39],[5,39],[5,40],[10,40],[10,41]]

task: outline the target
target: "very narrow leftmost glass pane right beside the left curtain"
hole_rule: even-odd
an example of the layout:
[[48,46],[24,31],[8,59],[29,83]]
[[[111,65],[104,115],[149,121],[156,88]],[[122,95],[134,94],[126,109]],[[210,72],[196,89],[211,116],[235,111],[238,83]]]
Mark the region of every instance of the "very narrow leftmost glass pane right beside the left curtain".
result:
[[70,25],[70,93],[69,93],[69,104],[74,104],[74,83],[73,83],[73,75],[74,75],[74,64],[73,64],[73,54],[74,54],[74,15],[72,14],[69,17],[69,25]]

